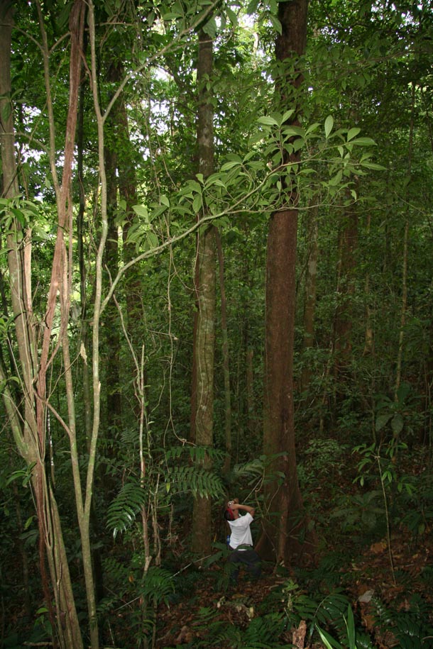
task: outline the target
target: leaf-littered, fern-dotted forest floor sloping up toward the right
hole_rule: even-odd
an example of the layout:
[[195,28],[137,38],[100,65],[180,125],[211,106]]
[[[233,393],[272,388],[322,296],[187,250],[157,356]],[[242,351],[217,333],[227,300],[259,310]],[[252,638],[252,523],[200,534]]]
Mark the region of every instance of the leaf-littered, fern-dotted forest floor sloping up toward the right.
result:
[[[406,467],[406,475],[423,477],[427,487],[429,473],[422,454]],[[346,470],[337,477],[337,482],[338,500],[344,501],[346,496],[349,500],[345,502],[352,502],[356,516],[364,509],[366,513],[376,511],[377,518],[385,520],[383,504],[382,509],[378,506],[382,498],[380,489],[360,491],[353,484],[353,475],[348,475]],[[236,588],[229,589],[228,579],[224,578],[226,556],[221,555],[218,561],[201,570],[187,562],[187,567],[183,567],[180,556],[175,597],[170,604],[161,604],[156,614],[155,647],[326,649],[315,627],[319,623],[329,632],[330,641],[339,638],[340,645],[331,642],[333,647],[433,649],[433,530],[428,528],[428,516],[424,516],[428,504],[422,506],[422,511],[415,505],[403,506],[400,520],[412,516],[417,521],[424,518],[427,523],[417,528],[417,533],[404,524],[394,524],[390,551],[384,524],[382,528],[376,525],[368,533],[366,521],[358,518],[358,534],[341,532],[341,517],[330,515],[335,513],[337,499],[335,492],[331,494],[329,484],[329,479],[317,475],[309,494],[322,520],[321,536],[326,539],[317,565],[292,566],[290,571],[263,565],[258,582],[249,582],[248,575],[241,573]],[[367,501],[369,494],[376,494],[378,501]],[[344,507],[345,504],[341,511],[345,516]],[[224,531],[220,536],[224,536]],[[334,604],[340,606],[340,622],[346,625],[346,631],[348,604],[351,606],[356,643],[353,637],[349,638],[350,633],[344,639],[341,623],[338,626],[332,621]],[[273,636],[274,641],[272,633],[266,640],[266,620],[272,619],[278,623],[283,621],[278,638]],[[256,631],[250,633],[253,641],[248,644],[248,629],[253,627]],[[229,628],[236,628],[237,634],[228,633]],[[263,634],[256,638],[254,633],[261,630]],[[263,643],[255,643],[255,639]]]

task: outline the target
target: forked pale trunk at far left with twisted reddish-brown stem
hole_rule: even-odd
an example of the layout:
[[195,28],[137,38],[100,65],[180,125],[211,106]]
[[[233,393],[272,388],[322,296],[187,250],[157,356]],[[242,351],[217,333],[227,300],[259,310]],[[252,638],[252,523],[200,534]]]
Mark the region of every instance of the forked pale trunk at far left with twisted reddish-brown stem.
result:
[[[38,6],[38,10],[40,7]],[[71,91],[77,79],[77,52],[80,49],[83,23],[82,3],[77,0],[70,13],[71,31]],[[16,175],[16,160],[14,150],[13,112],[9,104],[11,95],[10,53],[11,53],[11,3],[0,2],[0,145],[3,173],[4,196],[18,196],[18,181]],[[45,43],[44,43],[45,45]],[[44,48],[45,56],[46,48]],[[46,70],[46,59],[45,59]],[[9,105],[8,105],[9,104]],[[60,517],[57,511],[53,491],[48,476],[45,473],[45,416],[46,416],[46,387],[45,372],[50,348],[50,333],[53,322],[53,304],[57,289],[62,282],[62,229],[66,224],[67,194],[70,186],[71,151],[75,133],[74,99],[70,101],[70,111],[67,122],[67,145],[65,146],[65,165],[62,187],[56,184],[57,209],[59,211],[59,228],[53,260],[52,284],[48,295],[48,308],[45,313],[45,331],[40,345],[40,360],[38,361],[37,345],[35,344],[35,329],[31,305],[31,247],[30,242],[21,232],[16,223],[8,234],[8,264],[11,282],[11,301],[14,315],[14,325],[18,354],[20,358],[22,385],[24,391],[23,417],[18,414],[18,406],[13,402],[13,396],[8,389],[3,398],[9,416],[13,437],[19,453],[28,464],[32,464],[32,485],[35,494],[38,524],[40,530],[40,567],[44,584],[45,597],[48,607],[51,606],[51,596],[45,578],[45,559],[50,568],[50,579],[56,606],[56,619],[53,627],[57,628],[57,638],[62,646],[69,648],[82,647],[80,625],[75,610],[69,567],[65,546],[62,539]],[[5,109],[6,108],[6,109]],[[75,109],[76,113],[76,109]],[[69,138],[69,139],[68,139]],[[4,366],[0,367],[1,378],[6,382]],[[35,391],[38,398],[35,399]],[[23,423],[21,423],[23,422]]]

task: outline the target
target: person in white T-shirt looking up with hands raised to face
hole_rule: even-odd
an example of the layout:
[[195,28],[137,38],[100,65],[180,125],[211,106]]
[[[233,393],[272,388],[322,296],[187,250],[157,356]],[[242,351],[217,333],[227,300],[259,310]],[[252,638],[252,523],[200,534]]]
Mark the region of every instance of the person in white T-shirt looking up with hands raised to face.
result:
[[[246,511],[241,516],[239,511]],[[256,550],[253,548],[253,537],[250,525],[254,520],[254,508],[249,505],[239,504],[239,499],[229,500],[224,512],[224,518],[230,526],[229,564],[231,579],[237,582],[241,564],[246,567],[251,577],[258,579],[261,575],[261,563]]]

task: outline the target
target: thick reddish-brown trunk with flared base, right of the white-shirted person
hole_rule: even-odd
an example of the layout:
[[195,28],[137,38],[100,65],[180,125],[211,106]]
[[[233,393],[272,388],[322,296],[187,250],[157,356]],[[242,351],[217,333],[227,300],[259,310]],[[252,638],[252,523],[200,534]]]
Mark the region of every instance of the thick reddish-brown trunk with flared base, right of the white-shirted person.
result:
[[[281,1],[278,18],[282,33],[278,35],[275,53],[278,62],[299,57],[305,51],[307,38],[307,0]],[[291,87],[278,84],[280,103],[287,102],[287,92],[296,93],[300,87],[300,72],[292,77]],[[292,124],[297,125],[297,117]],[[298,154],[287,156],[286,162],[299,160]],[[297,246],[297,203],[299,195],[295,179],[285,189],[285,209],[270,218],[268,257],[266,262],[265,316],[265,386],[264,430],[265,455],[273,457],[265,487],[263,533],[258,552],[264,558],[274,558],[290,565],[299,562],[309,543],[305,511],[297,479],[295,455],[295,422],[293,407],[293,345],[295,332],[295,266]],[[275,477],[280,475],[280,478]]]

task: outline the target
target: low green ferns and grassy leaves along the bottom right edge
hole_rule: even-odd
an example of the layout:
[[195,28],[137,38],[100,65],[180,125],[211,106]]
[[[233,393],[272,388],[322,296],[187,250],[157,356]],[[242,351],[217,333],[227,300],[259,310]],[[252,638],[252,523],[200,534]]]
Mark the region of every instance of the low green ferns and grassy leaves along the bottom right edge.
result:
[[[195,608],[197,606],[197,608]],[[372,597],[368,602],[369,628],[365,628],[358,602],[343,589],[307,592],[294,579],[287,578],[270,589],[255,604],[247,594],[214,597],[206,606],[190,600],[190,633],[181,634],[180,643],[166,649],[214,648],[273,649],[292,648],[294,633],[301,633],[305,647],[327,649],[376,649],[384,646],[401,649],[433,647],[430,607],[420,595],[400,603],[385,604]],[[388,644],[385,644],[388,643]]]

